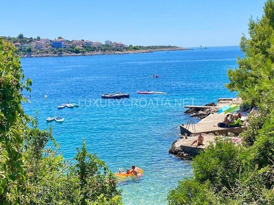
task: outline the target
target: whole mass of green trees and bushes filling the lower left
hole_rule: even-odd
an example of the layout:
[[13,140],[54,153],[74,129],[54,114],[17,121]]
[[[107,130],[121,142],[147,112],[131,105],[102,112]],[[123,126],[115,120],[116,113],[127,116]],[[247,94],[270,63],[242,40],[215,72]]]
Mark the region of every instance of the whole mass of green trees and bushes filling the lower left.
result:
[[31,85],[16,48],[0,38],[0,204],[121,204],[117,179],[84,141],[66,161],[51,128],[24,113]]

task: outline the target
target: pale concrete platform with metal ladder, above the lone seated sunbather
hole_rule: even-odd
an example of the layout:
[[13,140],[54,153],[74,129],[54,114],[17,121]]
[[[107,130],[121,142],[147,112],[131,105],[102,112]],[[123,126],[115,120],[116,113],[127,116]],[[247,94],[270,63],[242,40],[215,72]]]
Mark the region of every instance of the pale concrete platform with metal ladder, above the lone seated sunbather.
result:
[[190,124],[188,127],[186,124],[180,125],[181,134],[187,135],[197,134],[197,133],[217,133],[222,135],[227,135],[228,132],[233,132],[235,134],[241,133],[246,127],[218,127],[218,122],[222,122],[225,118],[225,114],[210,114],[198,123],[195,126]]

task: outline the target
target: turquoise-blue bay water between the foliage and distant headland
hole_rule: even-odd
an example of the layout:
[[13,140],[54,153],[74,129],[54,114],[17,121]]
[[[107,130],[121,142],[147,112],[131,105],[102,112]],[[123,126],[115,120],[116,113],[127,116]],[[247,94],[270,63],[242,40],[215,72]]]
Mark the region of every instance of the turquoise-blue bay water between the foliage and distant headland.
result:
[[[179,125],[190,118],[183,105],[234,97],[224,84],[227,70],[237,67],[238,47],[123,55],[22,58],[33,82],[27,114],[39,111],[39,126],[53,126],[66,159],[76,154],[84,138],[114,172],[132,164],[144,169],[139,180],[119,182],[125,204],[167,204],[169,190],[192,175],[191,162],[168,153],[178,139]],[[151,76],[158,74],[159,79]],[[168,95],[139,95],[138,90]],[[101,101],[106,92],[128,92],[125,101]],[[47,95],[47,99],[44,99]],[[66,102],[78,108],[58,110]],[[63,123],[49,122],[62,116]]]

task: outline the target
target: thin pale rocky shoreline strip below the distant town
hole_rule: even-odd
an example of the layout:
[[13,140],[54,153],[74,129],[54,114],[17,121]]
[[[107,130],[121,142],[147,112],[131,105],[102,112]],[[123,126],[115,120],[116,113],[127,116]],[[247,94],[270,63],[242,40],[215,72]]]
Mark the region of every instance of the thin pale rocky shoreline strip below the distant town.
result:
[[81,56],[81,55],[110,55],[110,54],[134,54],[134,53],[152,53],[155,51],[175,51],[175,50],[192,50],[191,48],[173,47],[173,48],[159,48],[159,49],[144,49],[144,50],[124,50],[124,51],[91,51],[86,53],[67,53],[53,54],[53,53],[31,53],[28,55],[20,55],[20,57],[62,57],[62,56]]

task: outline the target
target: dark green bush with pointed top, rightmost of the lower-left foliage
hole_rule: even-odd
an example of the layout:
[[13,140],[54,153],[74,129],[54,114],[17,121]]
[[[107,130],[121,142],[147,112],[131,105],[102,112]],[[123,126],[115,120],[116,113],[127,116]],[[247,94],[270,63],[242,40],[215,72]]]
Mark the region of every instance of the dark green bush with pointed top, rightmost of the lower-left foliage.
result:
[[[73,175],[79,178],[81,204],[95,202],[98,197],[104,196],[106,202],[117,201],[120,203],[120,191],[117,191],[117,179],[111,171],[95,155],[91,155],[86,150],[86,144],[77,149],[75,157],[75,167]],[[108,199],[107,199],[108,198]]]

